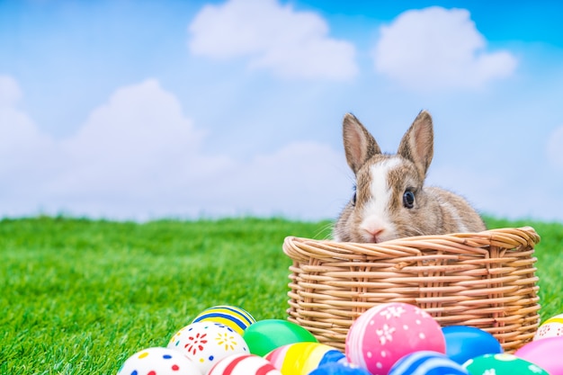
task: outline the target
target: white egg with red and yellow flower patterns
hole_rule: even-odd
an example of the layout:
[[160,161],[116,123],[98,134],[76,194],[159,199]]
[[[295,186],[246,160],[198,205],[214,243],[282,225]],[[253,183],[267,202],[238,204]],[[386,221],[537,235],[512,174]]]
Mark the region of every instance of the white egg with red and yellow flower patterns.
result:
[[195,363],[202,374],[219,360],[232,354],[247,354],[248,345],[231,327],[216,322],[197,322],[184,326],[168,343]]

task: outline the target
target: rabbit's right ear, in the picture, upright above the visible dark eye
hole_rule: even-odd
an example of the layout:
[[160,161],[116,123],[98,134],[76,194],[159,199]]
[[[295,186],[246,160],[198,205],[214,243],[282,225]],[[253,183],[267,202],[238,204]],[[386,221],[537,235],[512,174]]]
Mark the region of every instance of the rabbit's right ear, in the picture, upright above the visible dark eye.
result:
[[418,113],[398,146],[398,155],[412,161],[423,180],[432,162],[433,138],[432,117],[430,113],[422,111]]

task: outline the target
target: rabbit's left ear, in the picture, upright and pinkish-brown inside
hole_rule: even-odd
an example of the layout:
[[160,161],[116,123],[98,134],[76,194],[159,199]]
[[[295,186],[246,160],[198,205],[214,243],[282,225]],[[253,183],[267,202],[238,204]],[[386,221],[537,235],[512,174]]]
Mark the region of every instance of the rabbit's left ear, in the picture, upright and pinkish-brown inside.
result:
[[356,174],[371,156],[380,154],[381,149],[368,129],[365,129],[352,113],[346,113],[344,116],[342,130],[346,161]]

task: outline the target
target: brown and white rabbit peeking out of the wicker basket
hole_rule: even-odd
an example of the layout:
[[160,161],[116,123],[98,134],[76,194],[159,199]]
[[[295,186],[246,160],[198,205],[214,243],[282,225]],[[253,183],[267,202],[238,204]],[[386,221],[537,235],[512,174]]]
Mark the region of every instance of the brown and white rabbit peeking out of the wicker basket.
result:
[[351,113],[344,116],[343,136],[346,161],[356,183],[353,198],[335,221],[335,241],[380,243],[486,230],[478,212],[464,198],[424,186],[433,158],[430,113],[422,111],[416,116],[397,155],[381,153],[375,138]]

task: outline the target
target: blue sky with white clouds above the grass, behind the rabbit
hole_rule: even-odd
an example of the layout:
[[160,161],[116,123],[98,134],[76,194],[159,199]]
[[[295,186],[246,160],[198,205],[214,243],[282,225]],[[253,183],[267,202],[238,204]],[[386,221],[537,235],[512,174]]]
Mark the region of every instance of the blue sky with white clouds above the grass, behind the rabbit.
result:
[[563,5],[487,3],[0,0],[0,217],[335,218],[344,113],[426,109],[428,184],[563,221]]

